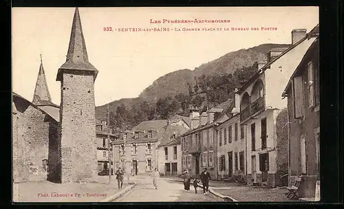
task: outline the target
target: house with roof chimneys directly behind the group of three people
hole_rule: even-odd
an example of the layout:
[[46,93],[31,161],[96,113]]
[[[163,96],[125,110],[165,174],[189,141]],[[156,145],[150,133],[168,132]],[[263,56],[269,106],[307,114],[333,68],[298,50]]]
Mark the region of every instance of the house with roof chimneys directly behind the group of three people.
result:
[[232,100],[203,112],[190,108],[191,129],[182,134],[182,168],[191,171],[192,175],[200,175],[204,168],[208,169],[212,179],[217,179],[217,135],[215,120],[232,105]]

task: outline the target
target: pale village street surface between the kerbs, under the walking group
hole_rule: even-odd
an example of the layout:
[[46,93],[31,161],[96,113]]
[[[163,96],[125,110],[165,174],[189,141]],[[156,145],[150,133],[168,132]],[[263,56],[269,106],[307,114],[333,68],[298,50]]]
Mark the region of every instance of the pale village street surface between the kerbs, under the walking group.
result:
[[153,180],[149,176],[131,177],[130,181],[138,184],[122,197],[115,199],[114,202],[135,202],[135,201],[223,201],[215,195],[203,195],[202,188],[197,188],[195,194],[193,186],[190,192],[184,191],[181,182],[159,179],[158,189],[153,187]]

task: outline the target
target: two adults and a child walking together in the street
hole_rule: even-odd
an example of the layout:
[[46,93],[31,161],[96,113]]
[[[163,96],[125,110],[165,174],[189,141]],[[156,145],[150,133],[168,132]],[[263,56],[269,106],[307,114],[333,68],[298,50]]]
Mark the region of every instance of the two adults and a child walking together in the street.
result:
[[[208,173],[206,168],[204,168],[204,171],[201,173],[200,179],[202,181],[202,186],[203,186],[203,195],[207,195],[208,188],[209,188],[209,181],[211,180],[211,175]],[[200,181],[197,179],[197,177],[195,178],[191,177],[189,170],[184,170],[184,190],[186,190],[186,192],[190,191],[191,181],[193,181],[193,187],[195,188],[195,193],[197,194],[197,187]]]

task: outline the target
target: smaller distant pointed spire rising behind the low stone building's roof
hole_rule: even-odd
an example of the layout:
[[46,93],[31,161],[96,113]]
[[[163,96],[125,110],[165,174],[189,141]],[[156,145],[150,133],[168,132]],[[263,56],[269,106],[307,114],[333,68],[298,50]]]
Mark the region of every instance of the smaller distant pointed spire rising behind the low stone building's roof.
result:
[[52,104],[52,98],[50,97],[49,89],[47,88],[47,80],[45,79],[42,56],[41,65],[39,66],[39,75],[37,76],[36,81],[36,88],[34,89],[34,99],[32,100],[32,103],[36,105]]

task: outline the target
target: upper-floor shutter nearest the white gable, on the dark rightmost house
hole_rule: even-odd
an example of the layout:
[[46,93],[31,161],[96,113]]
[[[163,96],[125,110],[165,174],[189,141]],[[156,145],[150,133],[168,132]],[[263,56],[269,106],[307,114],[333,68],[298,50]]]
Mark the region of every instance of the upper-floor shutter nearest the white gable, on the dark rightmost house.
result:
[[303,116],[303,80],[302,76],[294,78],[294,109],[295,118]]

